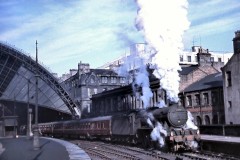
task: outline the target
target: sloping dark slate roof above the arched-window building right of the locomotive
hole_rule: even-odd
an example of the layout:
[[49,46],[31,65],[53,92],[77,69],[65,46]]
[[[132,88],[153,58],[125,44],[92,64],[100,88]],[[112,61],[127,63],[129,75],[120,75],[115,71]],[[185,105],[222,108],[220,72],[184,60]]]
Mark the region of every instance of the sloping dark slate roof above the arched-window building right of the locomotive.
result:
[[216,87],[223,87],[223,78],[221,72],[206,76],[205,78],[191,84],[183,92],[193,92]]

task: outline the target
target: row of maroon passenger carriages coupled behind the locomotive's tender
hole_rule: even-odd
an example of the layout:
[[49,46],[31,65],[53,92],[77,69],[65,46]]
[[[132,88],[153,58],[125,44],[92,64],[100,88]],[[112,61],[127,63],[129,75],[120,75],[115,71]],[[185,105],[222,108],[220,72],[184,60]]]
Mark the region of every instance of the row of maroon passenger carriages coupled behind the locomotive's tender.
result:
[[110,139],[112,116],[39,124],[41,133],[53,137]]

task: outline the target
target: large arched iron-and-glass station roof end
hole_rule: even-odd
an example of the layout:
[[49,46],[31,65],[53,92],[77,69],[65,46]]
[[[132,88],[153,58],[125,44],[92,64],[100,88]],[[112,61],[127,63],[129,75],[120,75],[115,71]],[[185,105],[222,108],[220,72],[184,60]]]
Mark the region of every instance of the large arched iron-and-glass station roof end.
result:
[[[0,100],[35,103],[36,62],[15,47],[0,42]],[[80,112],[57,79],[38,65],[38,102],[80,117]]]

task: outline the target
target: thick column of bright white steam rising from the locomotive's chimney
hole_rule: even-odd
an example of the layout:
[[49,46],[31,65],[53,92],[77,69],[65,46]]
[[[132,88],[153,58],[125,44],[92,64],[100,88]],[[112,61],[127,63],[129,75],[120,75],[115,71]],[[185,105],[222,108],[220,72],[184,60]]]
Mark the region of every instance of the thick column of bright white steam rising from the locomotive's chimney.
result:
[[182,36],[189,28],[187,0],[137,0],[139,11],[136,27],[156,52],[152,55],[154,75],[168,99],[178,101],[180,66],[179,52],[183,49]]

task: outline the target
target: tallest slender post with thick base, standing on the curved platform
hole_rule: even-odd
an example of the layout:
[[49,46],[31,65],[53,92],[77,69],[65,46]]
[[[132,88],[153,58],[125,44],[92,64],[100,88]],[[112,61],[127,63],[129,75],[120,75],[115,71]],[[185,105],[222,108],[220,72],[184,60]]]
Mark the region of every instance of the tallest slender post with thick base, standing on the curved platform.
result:
[[36,41],[36,71],[35,71],[35,78],[36,78],[36,85],[35,85],[35,125],[33,128],[33,149],[39,150],[39,131],[38,131],[38,49],[37,49],[37,41]]

